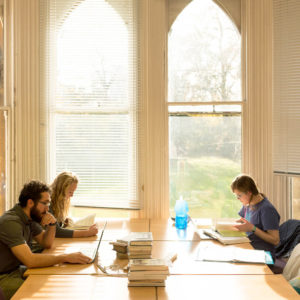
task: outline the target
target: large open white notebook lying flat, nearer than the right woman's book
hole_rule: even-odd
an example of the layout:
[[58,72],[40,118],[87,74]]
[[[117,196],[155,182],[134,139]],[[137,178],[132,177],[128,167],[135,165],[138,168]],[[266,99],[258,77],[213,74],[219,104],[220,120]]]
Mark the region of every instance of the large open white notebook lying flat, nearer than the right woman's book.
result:
[[273,264],[270,253],[263,250],[218,247],[215,245],[199,247],[196,260]]

